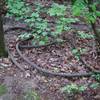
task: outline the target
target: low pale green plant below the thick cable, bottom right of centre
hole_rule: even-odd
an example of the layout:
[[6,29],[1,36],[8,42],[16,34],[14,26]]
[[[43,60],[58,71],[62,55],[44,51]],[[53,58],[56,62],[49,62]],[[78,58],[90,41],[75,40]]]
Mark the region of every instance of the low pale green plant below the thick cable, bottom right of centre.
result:
[[86,86],[78,86],[77,84],[70,84],[67,86],[64,86],[61,91],[62,92],[67,92],[69,94],[76,94],[76,93],[81,93],[84,92],[87,89]]

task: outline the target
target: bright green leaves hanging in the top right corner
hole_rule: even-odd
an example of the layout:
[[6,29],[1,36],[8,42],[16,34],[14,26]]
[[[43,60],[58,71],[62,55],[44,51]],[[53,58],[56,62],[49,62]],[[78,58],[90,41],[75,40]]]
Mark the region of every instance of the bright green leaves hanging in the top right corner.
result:
[[[93,0],[91,0],[92,2]],[[100,11],[96,7],[100,1],[91,3],[90,0],[75,0],[72,6],[73,15],[85,17],[89,23],[94,23],[97,17],[100,17]],[[90,11],[91,9],[91,11]]]

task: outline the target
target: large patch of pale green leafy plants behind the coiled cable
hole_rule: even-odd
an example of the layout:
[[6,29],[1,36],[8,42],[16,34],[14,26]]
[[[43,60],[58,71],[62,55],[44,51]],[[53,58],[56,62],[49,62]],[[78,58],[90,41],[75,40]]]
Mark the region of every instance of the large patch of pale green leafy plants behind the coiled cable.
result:
[[[63,32],[71,29],[70,24],[79,21],[77,18],[66,17],[66,6],[53,3],[50,7],[45,8],[41,3],[34,3],[34,12],[24,3],[23,0],[7,0],[10,16],[15,16],[17,19],[25,19],[27,25],[32,29],[31,34],[34,39],[33,45],[44,45],[49,42],[49,35],[52,35],[55,39],[59,38]],[[47,16],[53,17],[54,30],[50,26],[50,23],[46,18],[41,16],[45,13]],[[28,38],[30,33],[20,35],[21,39]]]

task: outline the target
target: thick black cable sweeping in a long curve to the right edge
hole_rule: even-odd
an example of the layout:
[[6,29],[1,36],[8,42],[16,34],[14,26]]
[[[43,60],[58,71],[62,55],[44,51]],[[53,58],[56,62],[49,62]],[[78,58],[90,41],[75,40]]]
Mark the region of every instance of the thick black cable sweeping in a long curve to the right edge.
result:
[[[45,74],[50,74],[50,75],[53,75],[53,76],[61,76],[61,77],[83,77],[83,76],[85,77],[85,76],[91,76],[93,73],[100,73],[99,71],[98,72],[94,71],[94,72],[89,72],[89,73],[73,73],[73,74],[71,74],[71,73],[61,73],[61,72],[56,73],[56,72],[49,71],[47,69],[43,69],[41,66],[38,66],[38,65],[34,64],[33,62],[30,62],[30,60],[27,59],[21,53],[21,51],[19,49],[19,47],[21,48],[20,43],[21,42],[16,44],[16,50],[17,50],[18,54],[20,55],[20,57],[22,59],[24,59],[28,64],[30,64],[34,69],[37,69],[38,71],[43,72]],[[32,46],[32,47],[34,47],[34,46]]]

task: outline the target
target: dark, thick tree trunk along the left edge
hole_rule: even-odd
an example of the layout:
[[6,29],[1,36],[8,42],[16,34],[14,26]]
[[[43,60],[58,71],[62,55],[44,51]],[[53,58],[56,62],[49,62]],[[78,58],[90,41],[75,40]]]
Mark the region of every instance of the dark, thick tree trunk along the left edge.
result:
[[8,55],[5,49],[3,20],[2,20],[4,6],[5,6],[4,0],[0,0],[0,57],[7,57]]

